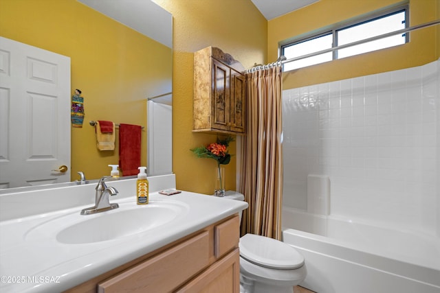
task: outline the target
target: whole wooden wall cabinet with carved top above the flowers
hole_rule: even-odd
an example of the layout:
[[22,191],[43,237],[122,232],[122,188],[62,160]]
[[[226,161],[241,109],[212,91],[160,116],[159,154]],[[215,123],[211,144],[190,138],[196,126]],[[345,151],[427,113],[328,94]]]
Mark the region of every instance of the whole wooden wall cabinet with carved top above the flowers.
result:
[[192,131],[245,133],[243,72],[243,65],[219,48],[195,52]]

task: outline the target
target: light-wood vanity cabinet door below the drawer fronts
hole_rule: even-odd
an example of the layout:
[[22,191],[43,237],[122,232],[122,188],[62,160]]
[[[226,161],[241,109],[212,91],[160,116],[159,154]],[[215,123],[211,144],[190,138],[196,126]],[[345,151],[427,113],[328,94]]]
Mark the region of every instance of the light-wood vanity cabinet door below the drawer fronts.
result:
[[214,263],[195,279],[187,283],[178,293],[239,293],[240,254],[239,248]]

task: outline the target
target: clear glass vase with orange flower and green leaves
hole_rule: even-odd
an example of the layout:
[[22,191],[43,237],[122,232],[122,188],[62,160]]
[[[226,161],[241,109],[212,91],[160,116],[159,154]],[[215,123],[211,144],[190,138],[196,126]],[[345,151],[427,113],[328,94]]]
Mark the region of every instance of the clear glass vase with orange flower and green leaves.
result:
[[231,155],[228,152],[228,146],[233,137],[219,139],[216,143],[210,143],[207,146],[193,148],[191,151],[199,158],[214,159],[217,162],[215,170],[214,196],[225,196],[225,168],[221,165],[228,165],[231,161]]

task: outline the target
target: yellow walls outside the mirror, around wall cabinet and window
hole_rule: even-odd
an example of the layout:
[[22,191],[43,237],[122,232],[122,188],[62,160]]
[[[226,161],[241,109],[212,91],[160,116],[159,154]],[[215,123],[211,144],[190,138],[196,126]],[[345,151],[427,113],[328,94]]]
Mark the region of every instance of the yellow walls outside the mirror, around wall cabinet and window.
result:
[[[411,2],[411,23],[438,19],[435,3],[440,0]],[[217,46],[240,60],[245,68],[254,62],[272,62],[278,58],[278,42],[365,14],[396,0],[320,0],[302,10],[267,22],[250,0],[188,1],[155,0],[173,14],[173,170],[177,188],[212,193],[215,162],[197,159],[189,149],[206,145],[215,135],[194,134],[192,129],[192,53],[203,47]],[[437,11],[438,11],[437,5]],[[438,14],[438,13],[437,13]],[[285,75],[285,88],[316,84],[330,80],[412,67],[439,58],[432,37],[433,28],[413,34],[412,43],[401,48],[382,50],[370,56],[338,60],[334,64],[301,69]],[[267,37],[266,37],[267,36]],[[427,43],[424,43],[428,39]],[[437,44],[439,44],[437,39]],[[265,50],[267,47],[267,51]],[[395,49],[399,49],[399,53]],[[413,51],[415,50],[415,51]],[[389,60],[391,57],[393,60]],[[296,73],[296,74],[295,74]],[[299,74],[301,73],[301,74]],[[298,77],[298,75],[301,75]],[[287,87],[286,87],[287,86]],[[231,153],[236,154],[234,143]],[[234,189],[235,157],[227,166],[227,189]]]

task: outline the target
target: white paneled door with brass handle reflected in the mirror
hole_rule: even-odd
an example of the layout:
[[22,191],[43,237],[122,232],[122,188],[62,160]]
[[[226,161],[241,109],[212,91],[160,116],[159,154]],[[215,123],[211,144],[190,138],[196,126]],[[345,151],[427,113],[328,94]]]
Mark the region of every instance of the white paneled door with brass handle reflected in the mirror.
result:
[[0,189],[69,180],[70,58],[0,37]]

